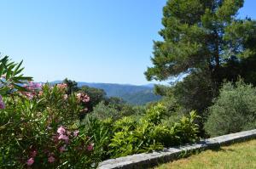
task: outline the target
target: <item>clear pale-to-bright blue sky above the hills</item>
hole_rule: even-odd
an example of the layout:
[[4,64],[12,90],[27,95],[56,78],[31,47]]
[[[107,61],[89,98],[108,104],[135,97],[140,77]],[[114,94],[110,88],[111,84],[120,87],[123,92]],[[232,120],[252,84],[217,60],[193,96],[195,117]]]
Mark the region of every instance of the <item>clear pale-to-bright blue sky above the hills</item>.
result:
[[[0,52],[37,82],[145,84],[166,0],[2,0]],[[240,16],[256,19],[256,1]]]

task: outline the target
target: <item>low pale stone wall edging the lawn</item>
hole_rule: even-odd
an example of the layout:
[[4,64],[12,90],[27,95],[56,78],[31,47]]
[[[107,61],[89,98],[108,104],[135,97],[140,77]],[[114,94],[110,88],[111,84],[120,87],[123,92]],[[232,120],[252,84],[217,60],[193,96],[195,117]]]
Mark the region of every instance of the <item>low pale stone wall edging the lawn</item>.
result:
[[125,157],[120,157],[117,159],[110,159],[108,161],[102,161],[100,163],[99,169],[130,169],[130,168],[147,168],[150,166],[155,166],[162,162],[168,162],[176,160],[183,155],[188,153],[201,151],[204,149],[216,149],[221,145],[233,144],[237,142],[242,142],[247,139],[256,138],[256,129],[246,132],[236,132],[233,134],[228,134],[220,136],[217,138],[209,138],[202,140],[196,144],[187,144],[184,146],[173,147],[169,149],[163,149],[162,151],[155,151],[153,153],[143,153],[138,155],[129,155]]

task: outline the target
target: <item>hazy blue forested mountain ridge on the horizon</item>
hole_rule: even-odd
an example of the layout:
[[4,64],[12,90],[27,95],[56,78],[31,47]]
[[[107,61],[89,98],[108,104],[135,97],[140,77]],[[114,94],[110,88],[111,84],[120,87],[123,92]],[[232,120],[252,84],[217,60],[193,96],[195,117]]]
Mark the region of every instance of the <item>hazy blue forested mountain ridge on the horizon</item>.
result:
[[[55,81],[51,83],[60,83]],[[119,97],[130,104],[146,104],[148,102],[157,101],[161,96],[154,94],[154,84],[148,85],[130,85],[116,83],[94,83],[94,82],[78,82],[78,86],[89,86],[103,89],[108,97]]]

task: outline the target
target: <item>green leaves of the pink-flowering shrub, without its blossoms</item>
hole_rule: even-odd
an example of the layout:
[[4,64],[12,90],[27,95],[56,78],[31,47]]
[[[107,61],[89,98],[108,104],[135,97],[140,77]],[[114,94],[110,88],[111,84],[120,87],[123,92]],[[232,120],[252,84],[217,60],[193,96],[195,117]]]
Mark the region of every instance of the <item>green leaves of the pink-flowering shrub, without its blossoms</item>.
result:
[[[92,144],[82,130],[79,130],[81,106],[74,95],[63,99],[65,92],[44,85],[42,93],[32,99],[13,97],[6,99],[7,109],[1,110],[1,152],[2,167],[26,167],[33,159],[32,168],[92,168],[99,159],[96,151],[87,150]],[[15,103],[15,104],[14,104]],[[57,132],[65,127],[68,143]],[[79,132],[78,136],[74,133]],[[63,152],[60,149],[65,149]],[[37,155],[32,156],[32,152]],[[54,162],[49,162],[49,158]]]

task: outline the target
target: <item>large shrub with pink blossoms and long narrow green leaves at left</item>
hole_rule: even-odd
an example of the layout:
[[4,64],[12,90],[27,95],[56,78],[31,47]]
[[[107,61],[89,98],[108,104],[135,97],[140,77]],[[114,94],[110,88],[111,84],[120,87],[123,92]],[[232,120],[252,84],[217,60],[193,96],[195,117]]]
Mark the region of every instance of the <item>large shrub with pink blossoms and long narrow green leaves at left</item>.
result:
[[0,63],[0,168],[95,168],[100,155],[79,126],[79,103],[90,98],[31,82],[8,58]]

